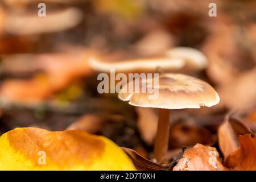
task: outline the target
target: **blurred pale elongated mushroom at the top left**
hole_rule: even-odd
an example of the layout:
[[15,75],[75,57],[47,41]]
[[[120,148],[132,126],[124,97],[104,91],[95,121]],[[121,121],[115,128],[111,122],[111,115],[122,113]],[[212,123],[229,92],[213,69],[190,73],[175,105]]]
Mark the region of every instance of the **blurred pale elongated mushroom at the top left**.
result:
[[34,14],[10,14],[5,31],[14,35],[58,32],[77,26],[81,20],[81,11],[73,7],[48,13],[44,18]]

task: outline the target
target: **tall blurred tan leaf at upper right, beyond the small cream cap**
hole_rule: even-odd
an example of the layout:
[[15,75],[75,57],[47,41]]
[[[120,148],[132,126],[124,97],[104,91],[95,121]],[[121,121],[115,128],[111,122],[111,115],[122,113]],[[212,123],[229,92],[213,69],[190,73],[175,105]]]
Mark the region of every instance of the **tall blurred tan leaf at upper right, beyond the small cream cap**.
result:
[[237,68],[233,66],[234,55],[237,52],[233,36],[236,28],[228,26],[229,23],[224,23],[226,17],[221,16],[220,18],[221,21],[216,20],[211,25],[212,33],[205,41],[202,51],[208,57],[207,75],[209,78],[217,84],[225,84],[232,81],[238,72]]

